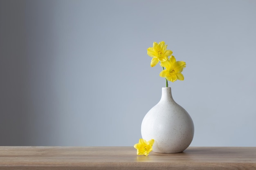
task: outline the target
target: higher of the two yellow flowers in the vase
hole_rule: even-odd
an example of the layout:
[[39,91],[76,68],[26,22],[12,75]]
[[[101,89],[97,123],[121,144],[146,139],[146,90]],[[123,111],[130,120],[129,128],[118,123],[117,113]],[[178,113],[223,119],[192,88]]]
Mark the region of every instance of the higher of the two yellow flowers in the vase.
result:
[[151,60],[150,66],[153,67],[157,65],[157,63],[160,62],[165,62],[168,60],[168,56],[172,55],[173,51],[171,50],[166,50],[167,45],[165,45],[165,42],[157,42],[153,43],[153,47],[149,47],[148,50],[148,55],[150,57],[153,57]]

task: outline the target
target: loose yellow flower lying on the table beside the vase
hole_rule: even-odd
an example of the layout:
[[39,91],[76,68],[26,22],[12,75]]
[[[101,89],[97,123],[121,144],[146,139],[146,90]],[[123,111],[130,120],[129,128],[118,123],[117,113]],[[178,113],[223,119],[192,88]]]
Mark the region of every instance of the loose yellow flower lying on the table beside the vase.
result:
[[153,150],[152,146],[154,142],[154,139],[149,141],[146,141],[145,139],[139,139],[139,144],[134,145],[134,148],[137,149],[137,155],[148,156],[149,152]]

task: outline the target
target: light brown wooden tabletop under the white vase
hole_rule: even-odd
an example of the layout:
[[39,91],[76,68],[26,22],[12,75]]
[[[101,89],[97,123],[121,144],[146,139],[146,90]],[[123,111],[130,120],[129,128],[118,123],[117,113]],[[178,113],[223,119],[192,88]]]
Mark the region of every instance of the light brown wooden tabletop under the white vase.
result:
[[0,146],[1,170],[256,170],[256,147],[189,147],[148,157],[133,147]]

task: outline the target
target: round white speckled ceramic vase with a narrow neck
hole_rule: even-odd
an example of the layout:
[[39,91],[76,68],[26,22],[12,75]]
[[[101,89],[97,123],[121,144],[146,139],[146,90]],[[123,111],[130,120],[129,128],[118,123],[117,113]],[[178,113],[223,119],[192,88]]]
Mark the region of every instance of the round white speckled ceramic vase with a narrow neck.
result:
[[177,153],[184,151],[194,136],[194,124],[189,113],[172,97],[171,87],[162,88],[160,101],[145,115],[141,135],[154,139],[153,151]]

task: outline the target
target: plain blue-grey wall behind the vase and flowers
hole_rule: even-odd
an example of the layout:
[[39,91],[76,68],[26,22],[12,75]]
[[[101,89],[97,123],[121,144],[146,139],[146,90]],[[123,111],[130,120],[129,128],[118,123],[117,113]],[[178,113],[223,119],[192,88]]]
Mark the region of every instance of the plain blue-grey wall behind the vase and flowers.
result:
[[154,41],[187,64],[191,146],[255,146],[255,0],[0,0],[0,145],[133,146]]

